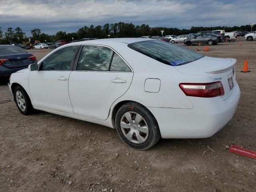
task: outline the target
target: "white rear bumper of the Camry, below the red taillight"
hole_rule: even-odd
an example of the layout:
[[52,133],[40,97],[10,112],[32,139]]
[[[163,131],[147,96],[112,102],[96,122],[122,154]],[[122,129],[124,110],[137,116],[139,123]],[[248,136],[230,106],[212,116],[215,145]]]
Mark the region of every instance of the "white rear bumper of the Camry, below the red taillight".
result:
[[192,109],[148,108],[155,116],[162,138],[208,138],[234,116],[240,98],[237,83],[226,99],[188,97]]

